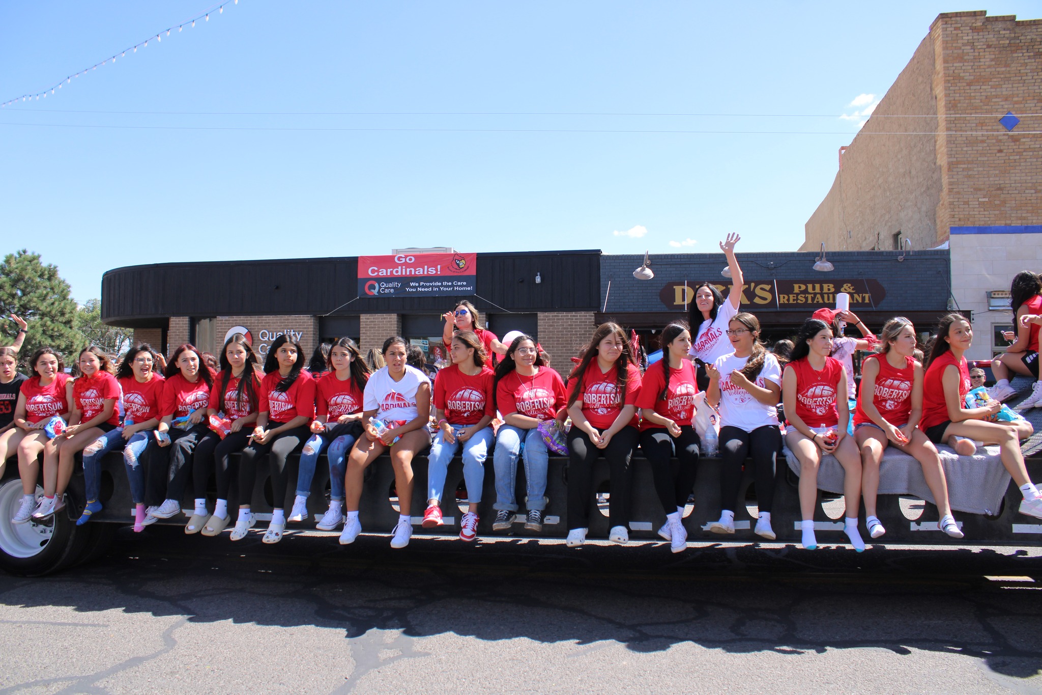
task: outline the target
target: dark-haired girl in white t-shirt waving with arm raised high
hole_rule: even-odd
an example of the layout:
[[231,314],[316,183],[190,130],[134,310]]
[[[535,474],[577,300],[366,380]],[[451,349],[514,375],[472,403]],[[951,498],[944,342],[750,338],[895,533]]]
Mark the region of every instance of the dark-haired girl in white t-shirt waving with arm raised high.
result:
[[[702,282],[695,288],[695,301],[691,304],[689,323],[691,324],[691,349],[688,354],[706,365],[712,365],[734,348],[727,340],[727,324],[738,314],[742,302],[742,269],[735,257],[735,245],[741,238],[738,234],[727,234],[727,240],[720,242],[720,249],[727,256],[727,267],[730,268],[731,286],[727,293],[727,301],[713,284]],[[736,291],[736,288],[738,290]],[[705,368],[698,365],[698,389],[704,391],[710,383]]]

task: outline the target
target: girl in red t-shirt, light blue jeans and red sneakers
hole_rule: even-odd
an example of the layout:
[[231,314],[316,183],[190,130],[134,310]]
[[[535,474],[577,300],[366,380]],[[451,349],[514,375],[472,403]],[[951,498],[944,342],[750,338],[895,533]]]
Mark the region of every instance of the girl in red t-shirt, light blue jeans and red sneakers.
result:
[[[495,435],[492,419],[492,384],[495,374],[489,367],[489,354],[471,330],[457,331],[449,348],[452,364],[435,377],[435,419],[438,433],[427,454],[427,511],[423,526],[442,525],[442,493],[449,462],[462,449],[463,475],[470,506],[460,521],[460,538],[473,541],[477,536],[477,505],[485,487],[485,460]],[[453,501],[454,501],[454,494]]]

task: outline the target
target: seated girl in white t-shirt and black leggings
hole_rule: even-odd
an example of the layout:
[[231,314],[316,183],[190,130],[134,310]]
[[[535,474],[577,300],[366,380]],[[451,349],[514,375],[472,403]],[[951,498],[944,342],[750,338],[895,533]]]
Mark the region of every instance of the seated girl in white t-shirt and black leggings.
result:
[[727,328],[734,352],[719,357],[705,371],[710,377],[706,400],[720,407],[720,520],[710,524],[714,533],[735,532],[735,506],[742,482],[742,466],[752,456],[760,518],[755,532],[771,541],[771,505],[774,501],[774,466],[782,449],[777,404],[782,397],[782,367],[760,344],[760,321],[745,312]]

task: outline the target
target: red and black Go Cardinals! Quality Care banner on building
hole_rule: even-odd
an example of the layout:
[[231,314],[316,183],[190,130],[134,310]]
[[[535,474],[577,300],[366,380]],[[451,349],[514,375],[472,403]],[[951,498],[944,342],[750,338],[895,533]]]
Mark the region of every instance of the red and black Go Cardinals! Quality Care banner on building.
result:
[[426,297],[476,292],[476,253],[358,256],[359,297]]

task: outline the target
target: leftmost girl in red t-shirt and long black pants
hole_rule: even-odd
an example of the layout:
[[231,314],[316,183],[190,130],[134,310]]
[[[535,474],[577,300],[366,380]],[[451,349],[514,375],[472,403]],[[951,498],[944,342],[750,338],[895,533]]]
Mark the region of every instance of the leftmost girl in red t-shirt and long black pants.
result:
[[[163,502],[147,510],[145,525],[180,513],[196,447],[204,438],[217,437],[206,420],[214,375],[199,349],[188,343],[179,345],[170,355],[166,376],[159,404],[160,420],[155,430],[158,446],[150,456],[145,493],[153,505],[158,499]],[[202,481],[201,496],[198,494],[200,483],[195,482],[197,496],[193,516],[202,516],[202,520],[205,520],[206,513],[205,482]],[[195,523],[199,521],[195,519]]]

